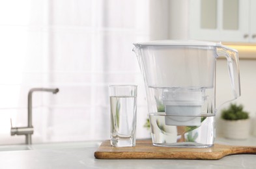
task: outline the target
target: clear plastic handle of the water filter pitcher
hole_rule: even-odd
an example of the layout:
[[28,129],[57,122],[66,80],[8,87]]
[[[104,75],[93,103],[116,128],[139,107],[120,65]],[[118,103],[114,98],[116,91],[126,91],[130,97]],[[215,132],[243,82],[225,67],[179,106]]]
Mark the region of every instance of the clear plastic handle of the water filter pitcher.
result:
[[[233,92],[233,99],[230,99],[228,101],[233,101],[241,96],[238,51],[220,44],[220,46],[217,47],[216,52],[218,57],[224,56],[227,59],[227,67],[229,70],[231,89]],[[228,101],[225,101],[225,103],[227,103]]]

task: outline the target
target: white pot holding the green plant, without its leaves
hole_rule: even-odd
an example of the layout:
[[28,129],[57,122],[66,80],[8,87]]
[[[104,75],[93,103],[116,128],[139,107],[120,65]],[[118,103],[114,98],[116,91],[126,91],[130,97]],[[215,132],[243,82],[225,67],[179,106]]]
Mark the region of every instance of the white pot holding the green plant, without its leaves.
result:
[[242,140],[249,137],[250,120],[223,120],[225,138]]

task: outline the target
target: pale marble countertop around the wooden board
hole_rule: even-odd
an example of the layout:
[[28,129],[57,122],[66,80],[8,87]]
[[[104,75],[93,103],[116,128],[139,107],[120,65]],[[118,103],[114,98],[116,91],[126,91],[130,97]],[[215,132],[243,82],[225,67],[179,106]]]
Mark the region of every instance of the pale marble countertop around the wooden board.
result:
[[[256,137],[240,141],[218,138],[216,143],[256,146]],[[256,155],[229,155],[216,161],[104,160],[94,158],[98,144],[67,145],[35,145],[33,150],[0,151],[0,168],[256,168]]]

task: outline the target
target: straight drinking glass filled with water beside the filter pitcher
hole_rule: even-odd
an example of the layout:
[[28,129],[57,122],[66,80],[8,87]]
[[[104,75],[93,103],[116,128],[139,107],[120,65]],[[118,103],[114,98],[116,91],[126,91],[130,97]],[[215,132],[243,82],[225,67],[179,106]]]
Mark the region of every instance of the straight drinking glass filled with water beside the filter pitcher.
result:
[[109,86],[111,112],[111,145],[135,146],[137,118],[137,86]]

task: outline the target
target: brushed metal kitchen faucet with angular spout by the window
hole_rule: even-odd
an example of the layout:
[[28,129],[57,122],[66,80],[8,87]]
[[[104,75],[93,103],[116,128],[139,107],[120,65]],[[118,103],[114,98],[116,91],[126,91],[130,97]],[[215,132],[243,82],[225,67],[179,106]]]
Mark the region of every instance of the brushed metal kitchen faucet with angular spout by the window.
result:
[[59,88],[31,88],[27,97],[27,127],[12,127],[12,120],[10,120],[10,135],[25,135],[25,144],[32,144],[31,135],[34,133],[32,125],[33,92],[52,92],[53,94],[57,94],[57,92],[59,92]]

